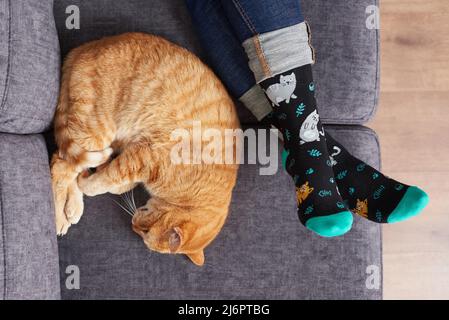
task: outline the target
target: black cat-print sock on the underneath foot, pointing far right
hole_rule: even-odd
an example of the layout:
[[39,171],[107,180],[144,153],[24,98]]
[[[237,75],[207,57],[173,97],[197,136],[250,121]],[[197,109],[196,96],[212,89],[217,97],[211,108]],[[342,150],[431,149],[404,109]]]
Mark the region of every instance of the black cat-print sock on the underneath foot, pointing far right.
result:
[[[270,123],[277,121],[274,114],[269,119]],[[352,156],[329,134],[326,144],[330,152],[327,165],[333,168],[340,194],[354,213],[378,223],[396,223],[418,215],[429,203],[423,190],[383,175]],[[284,150],[284,167],[288,155]]]

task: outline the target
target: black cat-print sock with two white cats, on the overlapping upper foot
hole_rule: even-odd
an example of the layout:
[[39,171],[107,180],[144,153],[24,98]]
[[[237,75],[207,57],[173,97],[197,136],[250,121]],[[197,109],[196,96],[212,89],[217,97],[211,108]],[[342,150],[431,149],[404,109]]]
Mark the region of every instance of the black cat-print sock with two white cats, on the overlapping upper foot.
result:
[[311,65],[295,68],[259,83],[273,105],[278,129],[289,150],[287,172],[297,190],[298,216],[310,230],[324,237],[343,235],[353,216],[341,198],[319,115]]

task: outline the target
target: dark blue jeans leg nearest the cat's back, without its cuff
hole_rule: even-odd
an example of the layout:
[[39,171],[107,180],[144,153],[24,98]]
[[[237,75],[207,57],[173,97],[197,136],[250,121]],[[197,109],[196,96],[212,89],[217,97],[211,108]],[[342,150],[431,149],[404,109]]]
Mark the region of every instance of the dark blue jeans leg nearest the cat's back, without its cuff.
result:
[[254,84],[248,58],[234,34],[219,0],[186,0],[207,63],[222,79],[230,93],[241,97]]

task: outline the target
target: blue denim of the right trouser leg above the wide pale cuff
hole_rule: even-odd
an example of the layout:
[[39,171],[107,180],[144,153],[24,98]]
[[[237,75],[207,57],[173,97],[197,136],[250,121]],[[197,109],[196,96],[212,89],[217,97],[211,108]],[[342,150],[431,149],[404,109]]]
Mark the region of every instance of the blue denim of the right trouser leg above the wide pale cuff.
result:
[[240,42],[301,22],[300,0],[220,0]]

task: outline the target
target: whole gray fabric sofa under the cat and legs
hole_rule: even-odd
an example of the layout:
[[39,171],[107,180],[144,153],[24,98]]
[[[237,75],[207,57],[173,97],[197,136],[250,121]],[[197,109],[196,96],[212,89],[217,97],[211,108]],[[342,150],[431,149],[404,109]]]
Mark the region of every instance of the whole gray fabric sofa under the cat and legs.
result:
[[[362,126],[377,104],[379,35],[365,23],[377,0],[302,2],[327,130],[378,168],[377,137]],[[80,29],[66,28],[69,5],[80,9]],[[382,269],[379,225],[356,217],[343,237],[308,232],[281,168],[261,176],[259,165],[241,166],[229,219],[202,268],[149,252],[110,195],[86,198],[80,223],[56,239],[48,130],[59,57],[125,31],[162,35],[202,56],[183,0],[0,0],[0,298],[381,299],[382,287],[367,285],[367,268]],[[258,126],[238,111],[243,126]],[[136,194],[142,203],[145,193]],[[73,265],[79,289],[66,285]]]

